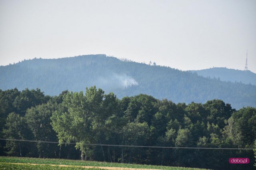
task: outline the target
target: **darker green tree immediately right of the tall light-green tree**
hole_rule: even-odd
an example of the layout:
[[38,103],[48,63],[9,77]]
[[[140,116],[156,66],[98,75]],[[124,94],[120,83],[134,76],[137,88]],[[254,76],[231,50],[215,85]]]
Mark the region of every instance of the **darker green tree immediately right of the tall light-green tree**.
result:
[[[118,136],[122,132],[122,127],[126,125],[123,117],[120,117],[120,107],[119,101],[114,93],[109,93],[104,95],[100,112],[94,117],[92,121],[92,131],[94,134],[94,139],[98,143],[113,144],[120,141]],[[115,149],[111,151],[108,146],[100,147],[100,152],[102,152],[103,159],[106,160],[108,157],[109,162],[112,160],[116,161]],[[113,152],[113,156],[111,156]],[[98,156],[98,155],[97,155]],[[100,156],[98,156],[100,157]]]

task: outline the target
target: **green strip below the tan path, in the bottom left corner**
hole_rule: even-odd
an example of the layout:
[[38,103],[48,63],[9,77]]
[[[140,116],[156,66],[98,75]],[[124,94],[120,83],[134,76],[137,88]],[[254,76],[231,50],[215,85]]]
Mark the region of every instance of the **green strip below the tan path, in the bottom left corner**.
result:
[[50,165],[10,164],[0,162],[0,170],[102,170],[98,168],[61,167]]

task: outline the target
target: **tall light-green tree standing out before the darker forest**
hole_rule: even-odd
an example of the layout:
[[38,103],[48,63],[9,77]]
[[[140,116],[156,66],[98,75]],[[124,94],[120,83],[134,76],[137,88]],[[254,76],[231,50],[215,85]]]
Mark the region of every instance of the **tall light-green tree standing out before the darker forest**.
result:
[[82,160],[86,160],[92,153],[86,144],[95,140],[93,131],[98,128],[97,123],[102,117],[103,97],[104,91],[97,90],[95,86],[86,88],[85,95],[82,91],[68,92],[63,101],[68,111],[52,114],[52,127],[58,134],[59,142],[75,141]]

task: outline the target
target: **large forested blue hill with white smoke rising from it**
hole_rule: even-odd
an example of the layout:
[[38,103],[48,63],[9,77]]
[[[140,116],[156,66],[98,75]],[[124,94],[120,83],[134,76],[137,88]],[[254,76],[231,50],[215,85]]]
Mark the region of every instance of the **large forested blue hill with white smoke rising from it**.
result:
[[39,88],[46,95],[96,85],[118,98],[140,93],[175,103],[222,99],[233,108],[256,107],[256,86],[224,82],[170,67],[121,61],[106,55],[31,59],[0,66],[0,89]]

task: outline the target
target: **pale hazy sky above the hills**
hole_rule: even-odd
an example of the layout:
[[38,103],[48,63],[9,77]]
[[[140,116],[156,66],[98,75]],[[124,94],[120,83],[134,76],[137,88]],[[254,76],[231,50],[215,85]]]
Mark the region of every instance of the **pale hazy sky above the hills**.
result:
[[0,65],[106,54],[256,73],[256,0],[0,0]]

